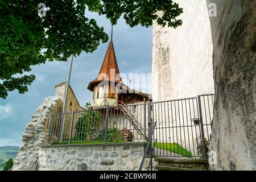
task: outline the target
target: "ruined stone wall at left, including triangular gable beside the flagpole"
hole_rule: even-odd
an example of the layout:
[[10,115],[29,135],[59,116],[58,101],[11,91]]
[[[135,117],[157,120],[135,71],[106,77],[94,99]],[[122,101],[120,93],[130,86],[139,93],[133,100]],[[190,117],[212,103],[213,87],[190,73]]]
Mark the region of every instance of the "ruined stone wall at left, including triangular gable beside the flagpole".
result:
[[[52,114],[61,113],[67,82],[55,86],[55,97],[47,97],[43,104],[36,109],[28,122],[22,138],[22,146],[14,160],[13,170],[35,170],[39,160],[41,146],[46,144],[48,122]],[[69,86],[67,110],[82,110],[75,93]],[[74,129],[75,130],[75,127]]]

